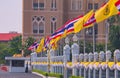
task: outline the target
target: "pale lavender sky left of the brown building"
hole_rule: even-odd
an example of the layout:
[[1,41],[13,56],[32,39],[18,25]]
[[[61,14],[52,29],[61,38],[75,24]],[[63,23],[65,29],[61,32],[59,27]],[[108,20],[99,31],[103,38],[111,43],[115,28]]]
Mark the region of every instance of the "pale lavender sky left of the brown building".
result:
[[22,0],[0,0],[0,33],[22,33]]

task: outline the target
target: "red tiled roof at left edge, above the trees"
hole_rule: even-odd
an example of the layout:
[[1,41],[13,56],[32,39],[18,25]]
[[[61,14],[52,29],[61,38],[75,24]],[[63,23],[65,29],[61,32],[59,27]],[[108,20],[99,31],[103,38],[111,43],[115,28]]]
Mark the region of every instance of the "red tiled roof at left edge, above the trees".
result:
[[20,36],[20,33],[0,33],[0,41],[9,41],[13,37]]

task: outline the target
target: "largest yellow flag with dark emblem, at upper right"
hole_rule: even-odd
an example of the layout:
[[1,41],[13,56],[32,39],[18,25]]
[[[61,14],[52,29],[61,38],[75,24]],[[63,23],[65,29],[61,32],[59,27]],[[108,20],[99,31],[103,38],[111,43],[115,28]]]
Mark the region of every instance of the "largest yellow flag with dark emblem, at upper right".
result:
[[117,0],[109,0],[104,6],[95,12],[96,22],[101,22],[110,16],[118,14],[118,10],[115,6]]

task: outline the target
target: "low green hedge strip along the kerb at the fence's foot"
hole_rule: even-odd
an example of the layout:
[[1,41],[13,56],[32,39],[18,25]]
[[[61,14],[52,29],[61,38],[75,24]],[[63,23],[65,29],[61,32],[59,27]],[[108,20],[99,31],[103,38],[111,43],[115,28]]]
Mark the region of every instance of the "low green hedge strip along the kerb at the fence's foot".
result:
[[42,74],[42,75],[44,75],[44,76],[50,76],[50,77],[63,78],[63,75],[61,75],[61,74],[48,73],[48,72],[44,72],[44,71],[37,70],[37,69],[33,69],[32,71],[33,71],[33,72],[40,73],[40,74]]

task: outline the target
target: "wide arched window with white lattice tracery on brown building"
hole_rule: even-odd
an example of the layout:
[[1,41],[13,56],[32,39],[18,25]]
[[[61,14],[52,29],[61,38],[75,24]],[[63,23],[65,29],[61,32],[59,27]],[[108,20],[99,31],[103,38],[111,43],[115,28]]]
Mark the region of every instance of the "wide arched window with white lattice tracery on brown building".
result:
[[33,22],[33,33],[44,33],[45,18],[43,16],[34,16],[32,18]]

